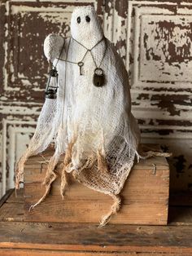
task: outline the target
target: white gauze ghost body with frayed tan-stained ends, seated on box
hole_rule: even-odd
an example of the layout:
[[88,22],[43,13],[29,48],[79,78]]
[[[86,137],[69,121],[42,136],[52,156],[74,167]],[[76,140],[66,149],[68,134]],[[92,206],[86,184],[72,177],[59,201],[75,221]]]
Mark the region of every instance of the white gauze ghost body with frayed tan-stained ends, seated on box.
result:
[[[131,113],[129,75],[115,47],[104,38],[91,6],[76,7],[71,38],[50,34],[44,51],[59,73],[57,99],[46,99],[42,107],[35,134],[17,163],[15,187],[19,188],[23,180],[24,162],[44,151],[54,138],[55,154],[50,158],[44,180],[46,192],[31,208],[46,198],[57,177],[55,166],[65,153],[61,195],[67,185],[67,172],[85,186],[112,196],[114,204],[100,223],[104,226],[111,214],[120,209],[120,191],[134,158],[138,161],[141,157],[137,152],[140,132]],[[77,63],[82,59],[81,75]],[[98,66],[105,75],[102,87],[93,83]],[[151,155],[154,153],[149,152],[146,157]]]

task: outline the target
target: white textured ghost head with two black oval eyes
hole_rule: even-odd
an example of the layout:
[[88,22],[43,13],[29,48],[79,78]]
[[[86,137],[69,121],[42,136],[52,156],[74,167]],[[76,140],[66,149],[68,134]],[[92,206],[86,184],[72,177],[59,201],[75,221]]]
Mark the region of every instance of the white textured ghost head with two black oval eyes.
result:
[[87,48],[91,48],[103,38],[103,29],[94,7],[76,7],[74,9],[71,20],[71,34],[72,38],[81,42]]

